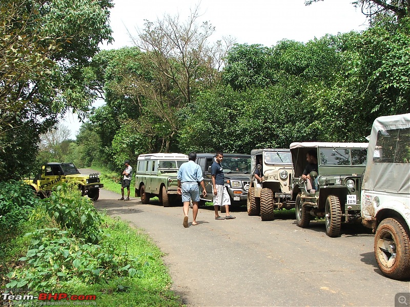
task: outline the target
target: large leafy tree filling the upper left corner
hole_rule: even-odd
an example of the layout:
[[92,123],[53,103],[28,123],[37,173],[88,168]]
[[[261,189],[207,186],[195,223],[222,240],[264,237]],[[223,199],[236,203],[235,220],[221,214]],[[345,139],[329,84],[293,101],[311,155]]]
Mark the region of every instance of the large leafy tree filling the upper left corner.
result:
[[110,0],[2,1],[0,180],[25,173],[39,135],[68,107],[85,115],[94,93],[83,69],[98,43],[111,39],[111,6]]

